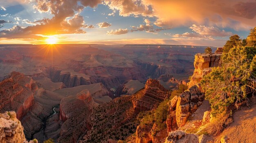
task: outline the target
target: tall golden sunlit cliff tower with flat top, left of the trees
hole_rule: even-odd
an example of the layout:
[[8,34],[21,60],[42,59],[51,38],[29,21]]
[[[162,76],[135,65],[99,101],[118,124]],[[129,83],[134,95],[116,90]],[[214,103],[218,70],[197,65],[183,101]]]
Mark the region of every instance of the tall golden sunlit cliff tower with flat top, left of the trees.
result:
[[202,77],[209,73],[209,68],[220,65],[222,53],[206,54],[198,53],[195,55],[195,70],[189,82],[189,88],[201,81]]

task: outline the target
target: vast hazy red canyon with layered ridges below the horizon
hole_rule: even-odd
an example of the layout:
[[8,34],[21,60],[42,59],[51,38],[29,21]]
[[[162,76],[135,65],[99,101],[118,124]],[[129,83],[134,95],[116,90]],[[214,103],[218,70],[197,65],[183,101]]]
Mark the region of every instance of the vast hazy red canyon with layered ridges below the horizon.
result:
[[[123,140],[135,132],[138,140],[144,130],[137,128],[138,116],[155,110],[171,96],[171,89],[186,84],[194,54],[204,50],[74,44],[58,45],[47,53],[47,47],[40,45],[16,46],[0,49],[1,112],[17,112],[26,139],[62,143]],[[193,97],[192,91],[189,95]],[[200,104],[199,97],[192,100],[184,103],[191,107],[188,112]],[[176,122],[184,124],[183,114],[189,113],[177,110]]]

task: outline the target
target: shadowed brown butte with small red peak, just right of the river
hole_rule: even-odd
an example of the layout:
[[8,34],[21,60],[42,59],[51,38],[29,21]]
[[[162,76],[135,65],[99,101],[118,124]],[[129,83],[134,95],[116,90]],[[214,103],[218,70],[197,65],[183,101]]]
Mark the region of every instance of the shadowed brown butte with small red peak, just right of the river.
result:
[[61,100],[59,119],[63,124],[58,142],[76,143],[84,132],[91,130],[89,117],[94,105],[87,89],[79,92],[76,96],[65,97]]

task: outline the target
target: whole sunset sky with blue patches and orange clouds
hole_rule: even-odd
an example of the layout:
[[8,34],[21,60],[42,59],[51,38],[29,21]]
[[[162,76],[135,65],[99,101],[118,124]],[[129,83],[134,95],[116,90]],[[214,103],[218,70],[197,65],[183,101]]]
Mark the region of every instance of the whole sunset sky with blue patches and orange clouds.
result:
[[0,1],[0,44],[221,47],[256,26],[256,0]]

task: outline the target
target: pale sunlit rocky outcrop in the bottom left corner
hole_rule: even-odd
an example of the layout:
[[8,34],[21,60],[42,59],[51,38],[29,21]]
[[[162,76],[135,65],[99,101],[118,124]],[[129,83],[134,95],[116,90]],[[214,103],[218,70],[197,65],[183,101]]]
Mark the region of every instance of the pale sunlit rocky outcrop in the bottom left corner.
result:
[[38,143],[36,139],[26,141],[23,126],[16,118],[14,111],[0,113],[0,142],[1,143]]

